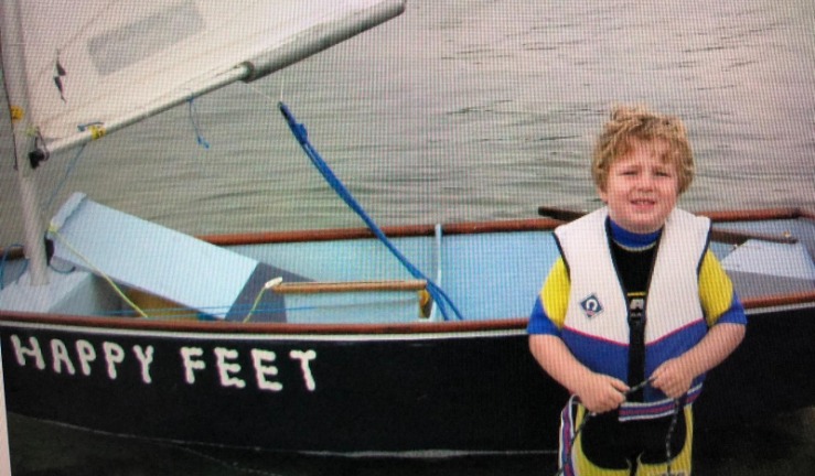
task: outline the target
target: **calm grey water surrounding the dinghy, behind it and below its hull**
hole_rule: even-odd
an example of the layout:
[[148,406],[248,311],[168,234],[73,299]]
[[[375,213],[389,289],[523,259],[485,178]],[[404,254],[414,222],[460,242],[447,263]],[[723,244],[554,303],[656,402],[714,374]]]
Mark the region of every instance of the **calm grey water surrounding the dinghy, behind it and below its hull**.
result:
[[[532,217],[541,204],[597,206],[587,158],[615,102],[686,120],[699,171],[686,208],[815,208],[814,31],[809,0],[412,1],[375,31],[197,99],[194,117],[208,150],[197,145],[182,107],[78,155],[53,156],[41,167],[42,202],[51,216],[82,191],[190,234],[358,226],[297,149],[275,107],[282,97],[383,225]],[[2,247],[22,231],[7,136],[0,152]],[[700,467],[811,474],[813,425],[804,411],[718,435],[699,452]],[[28,475],[554,470],[548,456],[212,458],[24,419],[11,426],[15,474]]]

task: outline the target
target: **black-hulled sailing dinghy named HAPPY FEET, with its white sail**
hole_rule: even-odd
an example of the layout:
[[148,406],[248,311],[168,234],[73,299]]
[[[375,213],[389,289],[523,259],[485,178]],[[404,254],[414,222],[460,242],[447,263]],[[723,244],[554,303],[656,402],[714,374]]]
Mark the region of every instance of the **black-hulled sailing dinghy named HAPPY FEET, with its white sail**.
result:
[[[190,237],[75,194],[47,225],[40,217],[33,177],[55,151],[269,74],[397,15],[401,1],[88,3],[93,21],[71,15],[74,2],[2,2],[28,257],[4,259],[0,283],[9,412],[285,452],[557,447],[567,396],[530,357],[525,325],[558,253],[553,229],[572,213]],[[144,87],[154,78],[167,88]],[[709,376],[700,424],[815,404],[815,216],[708,215],[750,323]]]

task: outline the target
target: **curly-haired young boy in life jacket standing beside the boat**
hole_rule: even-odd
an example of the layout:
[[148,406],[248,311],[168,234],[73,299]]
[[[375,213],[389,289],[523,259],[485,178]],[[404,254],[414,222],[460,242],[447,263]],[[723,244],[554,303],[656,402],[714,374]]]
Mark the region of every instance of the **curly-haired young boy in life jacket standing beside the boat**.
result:
[[747,318],[708,250],[710,220],[676,208],[694,177],[683,123],[618,107],[593,152],[605,206],[558,227],[533,310],[532,354],[572,398],[560,468],[690,474],[691,403]]

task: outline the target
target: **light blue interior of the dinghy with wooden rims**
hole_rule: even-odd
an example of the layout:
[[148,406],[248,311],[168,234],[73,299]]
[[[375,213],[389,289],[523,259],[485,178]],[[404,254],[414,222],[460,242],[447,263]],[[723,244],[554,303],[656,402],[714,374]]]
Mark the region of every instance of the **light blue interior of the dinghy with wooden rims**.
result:
[[[190,237],[77,194],[52,221],[50,285],[25,285],[25,259],[3,252],[0,309],[293,324],[525,317],[557,258],[551,229],[580,215],[539,214],[546,218],[389,229],[427,273],[417,279],[365,230]],[[711,250],[749,309],[815,299],[812,214],[708,215]],[[440,312],[428,281],[460,315]]]

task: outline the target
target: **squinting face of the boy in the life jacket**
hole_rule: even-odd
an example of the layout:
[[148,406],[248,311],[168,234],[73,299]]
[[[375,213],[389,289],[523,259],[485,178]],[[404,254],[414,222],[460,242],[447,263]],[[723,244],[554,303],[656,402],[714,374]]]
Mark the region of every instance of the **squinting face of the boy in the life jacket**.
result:
[[662,228],[676,206],[679,178],[675,163],[663,161],[663,141],[632,142],[631,151],[609,167],[600,198],[609,216],[629,231],[646,234]]

